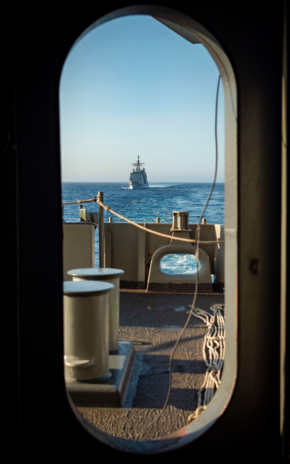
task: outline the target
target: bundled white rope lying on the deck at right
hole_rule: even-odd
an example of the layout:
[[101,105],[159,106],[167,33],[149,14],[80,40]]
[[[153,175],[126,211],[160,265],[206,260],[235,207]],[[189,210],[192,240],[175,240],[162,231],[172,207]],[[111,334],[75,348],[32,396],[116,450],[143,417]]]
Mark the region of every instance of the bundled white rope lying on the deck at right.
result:
[[[189,306],[191,307],[191,305]],[[210,309],[213,311],[213,314],[196,307],[193,311],[193,316],[198,317],[207,325],[207,332],[202,348],[203,359],[207,369],[205,380],[197,393],[197,408],[193,414],[188,416],[188,422],[196,419],[206,409],[208,403],[213,398],[214,392],[220,385],[226,351],[225,317],[221,313],[224,309],[224,304],[214,304]],[[190,312],[187,311],[187,314]]]

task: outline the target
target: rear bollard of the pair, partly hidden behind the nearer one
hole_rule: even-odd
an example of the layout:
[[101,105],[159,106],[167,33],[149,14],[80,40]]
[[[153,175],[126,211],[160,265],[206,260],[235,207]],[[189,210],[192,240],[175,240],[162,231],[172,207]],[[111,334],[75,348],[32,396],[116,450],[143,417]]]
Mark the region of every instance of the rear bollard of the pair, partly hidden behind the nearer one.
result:
[[118,350],[119,347],[119,304],[120,304],[120,276],[124,273],[122,269],[87,268],[73,269],[68,271],[68,275],[73,281],[94,280],[105,281],[114,285],[109,292],[109,349],[110,353]]

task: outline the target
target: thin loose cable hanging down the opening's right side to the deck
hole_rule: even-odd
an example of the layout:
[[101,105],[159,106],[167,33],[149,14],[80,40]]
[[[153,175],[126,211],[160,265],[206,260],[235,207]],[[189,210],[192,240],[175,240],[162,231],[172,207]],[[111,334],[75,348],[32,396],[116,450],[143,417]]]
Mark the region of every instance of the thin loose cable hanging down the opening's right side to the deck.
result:
[[198,287],[198,277],[199,277],[198,258],[199,258],[199,245],[200,245],[200,243],[199,243],[199,241],[200,241],[200,223],[201,223],[201,220],[203,218],[204,213],[206,212],[206,208],[208,206],[209,200],[211,199],[213,189],[214,189],[214,186],[215,186],[215,182],[216,182],[216,178],[217,178],[217,174],[218,174],[218,131],[217,131],[217,129],[218,129],[218,102],[219,102],[219,83],[220,83],[220,79],[221,79],[221,77],[219,75],[217,96],[216,96],[216,103],[215,103],[215,172],[214,172],[214,179],[213,179],[213,185],[212,185],[211,191],[210,191],[210,193],[208,195],[208,198],[207,198],[207,201],[206,201],[206,205],[203,208],[203,211],[202,211],[202,213],[200,215],[200,220],[199,220],[199,223],[197,225],[196,232],[195,232],[196,278],[195,278],[195,290],[194,290],[193,304],[191,306],[191,310],[190,310],[189,316],[187,318],[187,322],[185,323],[183,329],[181,330],[180,335],[179,335],[179,337],[178,337],[178,339],[177,339],[177,341],[176,341],[176,343],[174,345],[174,348],[173,348],[171,356],[170,356],[170,360],[169,360],[169,387],[168,387],[168,393],[167,393],[167,397],[166,397],[164,406],[163,406],[161,412],[159,412],[158,416],[156,416],[155,419],[153,419],[148,425],[146,425],[145,429],[143,430],[142,434],[140,435],[140,438],[139,438],[140,440],[142,439],[142,437],[144,435],[144,432],[146,432],[148,427],[150,427],[150,425],[154,424],[154,422],[156,422],[156,420],[158,420],[160,418],[161,414],[163,414],[163,412],[165,411],[165,409],[166,409],[166,407],[168,405],[168,400],[169,400],[169,396],[170,396],[170,393],[171,393],[171,386],[172,386],[172,361],[173,361],[173,358],[174,358],[176,348],[177,348],[177,346],[178,346],[178,344],[180,342],[180,339],[181,339],[182,335],[184,334],[185,330],[187,329],[190,318],[193,315],[193,309],[194,309],[195,302],[196,302],[197,287]]

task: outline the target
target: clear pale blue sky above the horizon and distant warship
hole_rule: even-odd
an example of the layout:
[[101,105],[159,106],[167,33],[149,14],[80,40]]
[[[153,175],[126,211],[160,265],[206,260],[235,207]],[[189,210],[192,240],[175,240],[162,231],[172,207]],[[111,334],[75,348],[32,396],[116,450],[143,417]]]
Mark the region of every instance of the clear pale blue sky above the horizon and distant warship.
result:
[[[64,181],[211,182],[219,71],[206,48],[150,16],[114,19],[69,53],[60,82]],[[219,92],[224,181],[224,95]]]

